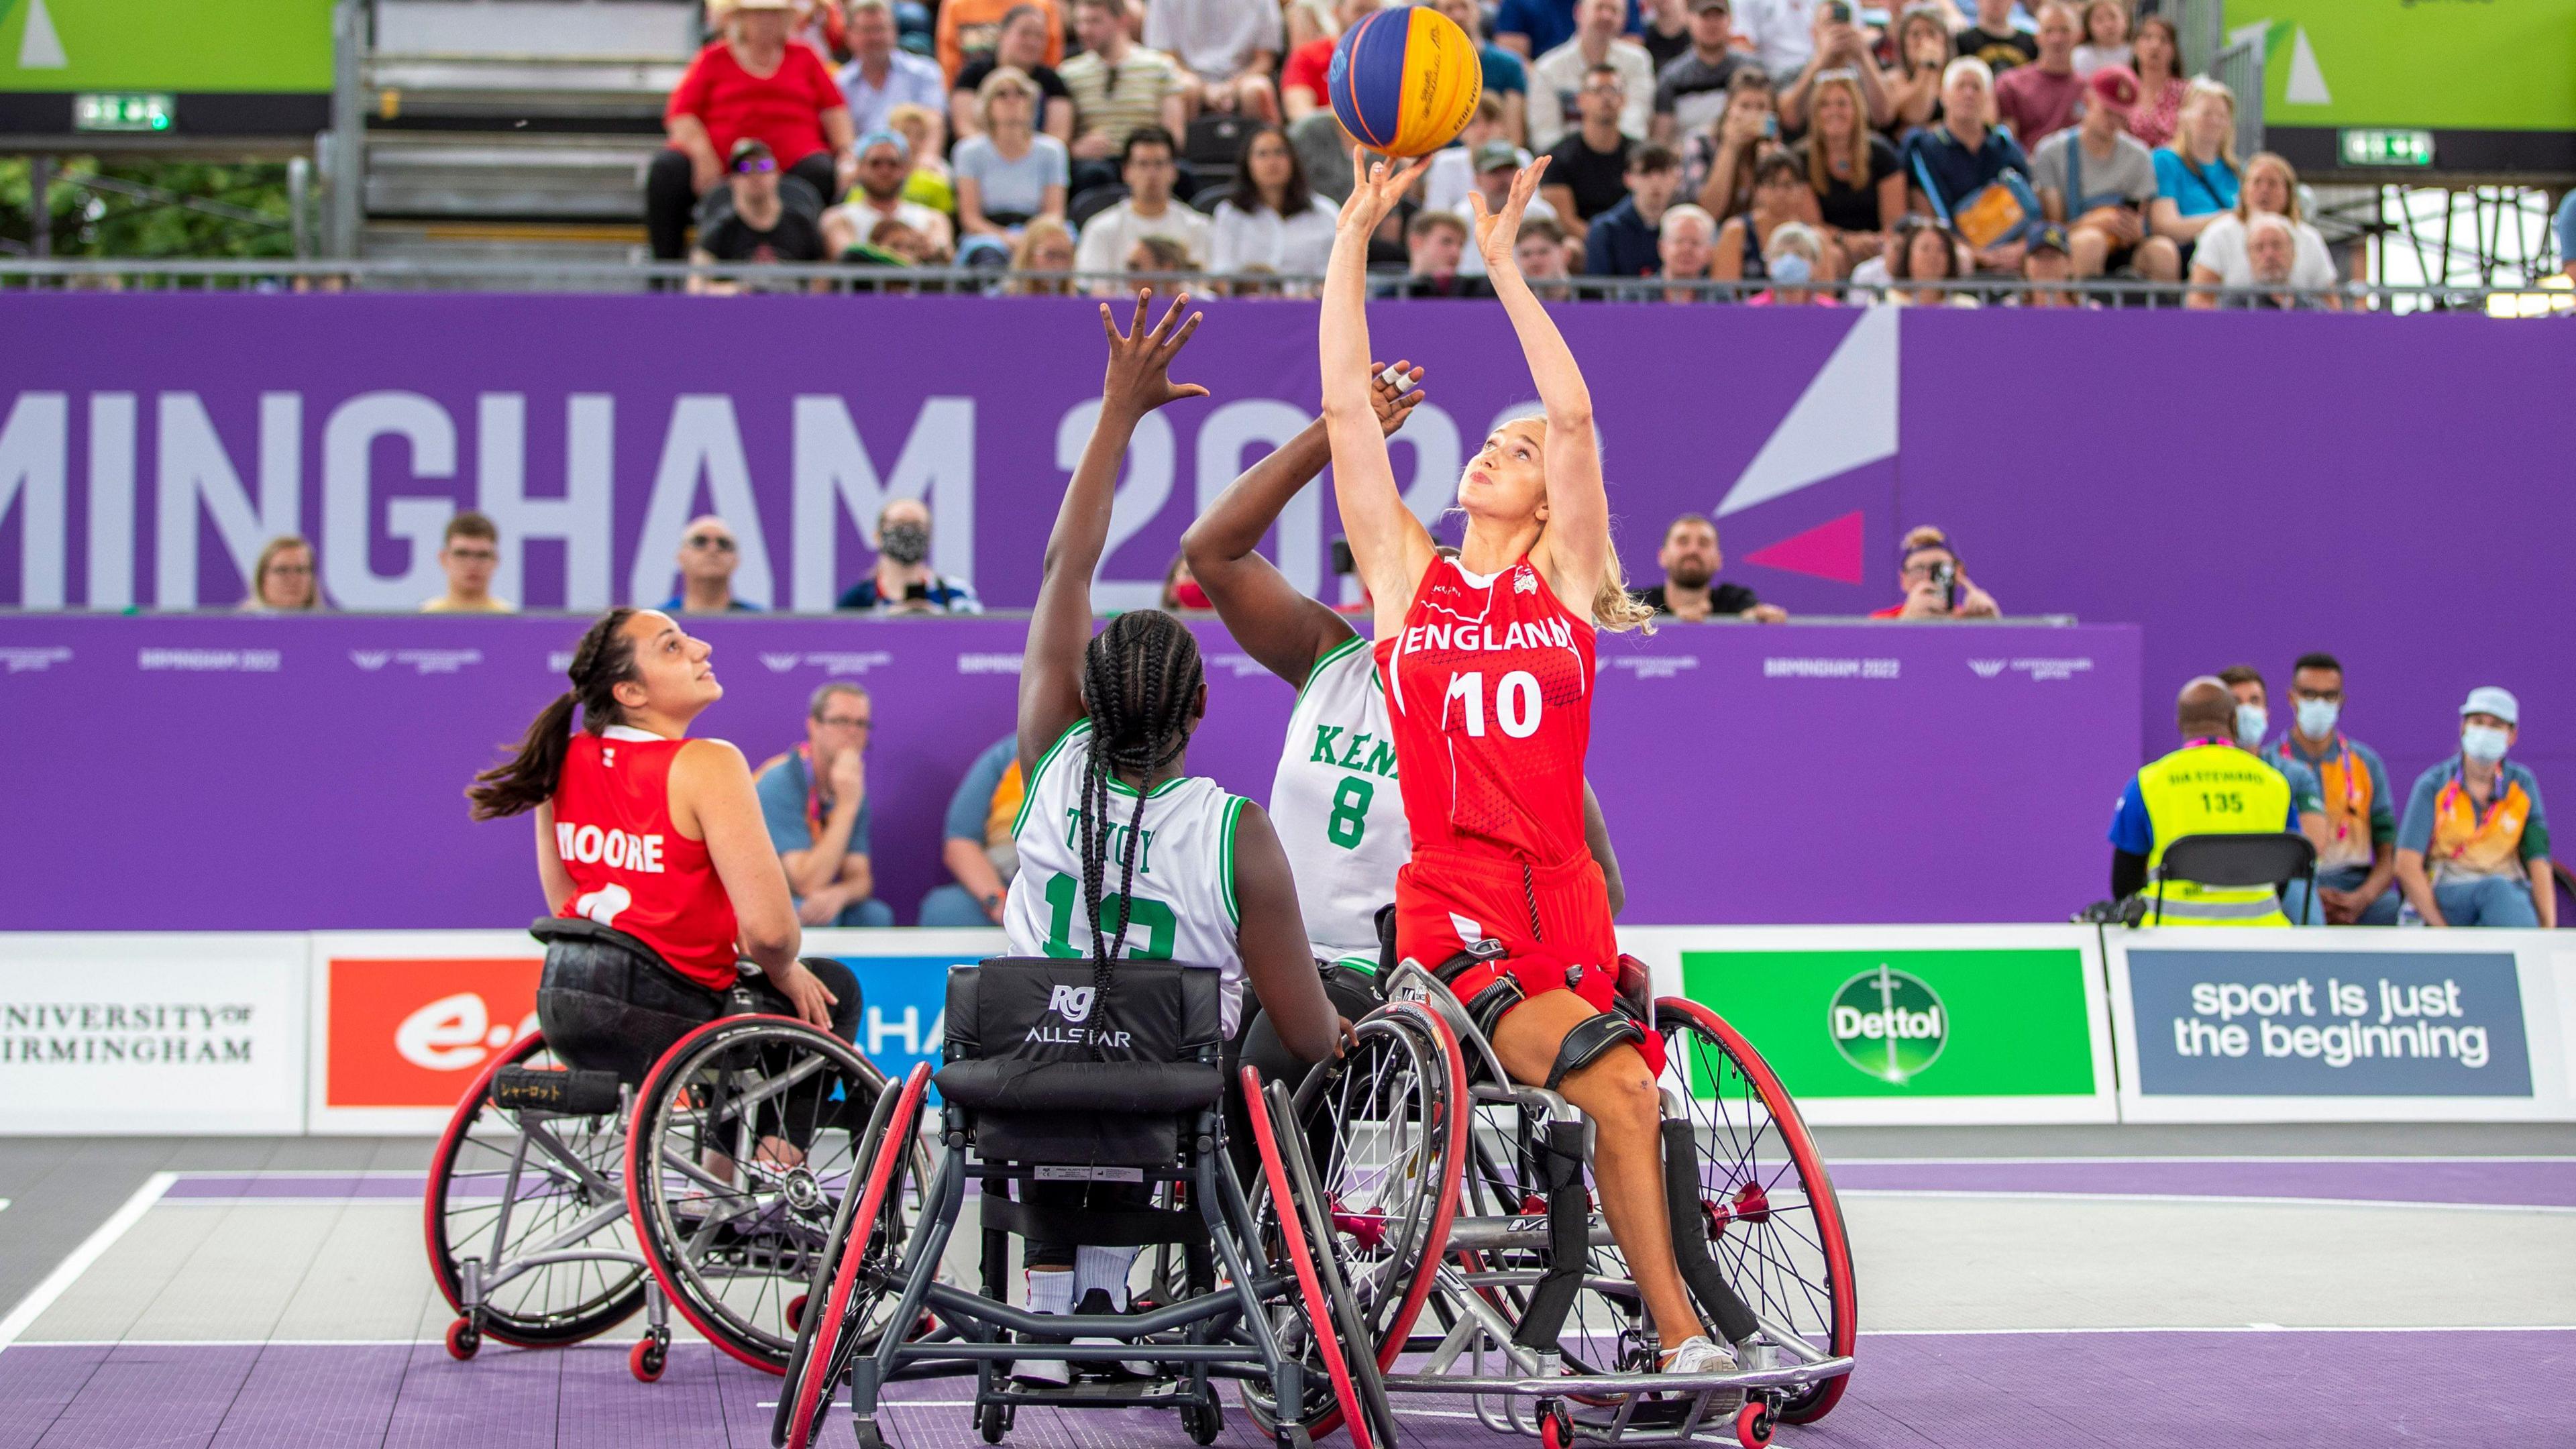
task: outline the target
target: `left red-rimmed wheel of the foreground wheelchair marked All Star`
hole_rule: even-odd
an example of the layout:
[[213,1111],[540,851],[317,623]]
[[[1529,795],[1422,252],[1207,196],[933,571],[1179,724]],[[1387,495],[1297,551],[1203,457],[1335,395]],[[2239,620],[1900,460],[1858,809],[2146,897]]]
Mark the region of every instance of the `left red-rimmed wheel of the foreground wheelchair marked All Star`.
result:
[[[817,1441],[832,1395],[860,1354],[876,1348],[902,1289],[904,1243],[917,1222],[922,1178],[912,1150],[922,1122],[922,1096],[930,1091],[930,1065],[914,1062],[904,1088],[878,1093],[868,1129],[860,1134],[860,1181],[832,1225],[806,1299],[817,1305],[796,1333],[788,1354],[778,1413],[770,1418],[770,1444],[806,1449]],[[994,1426],[1007,1421],[994,1418]],[[984,1426],[984,1418],[976,1418]],[[997,1439],[987,1439],[994,1444]]]

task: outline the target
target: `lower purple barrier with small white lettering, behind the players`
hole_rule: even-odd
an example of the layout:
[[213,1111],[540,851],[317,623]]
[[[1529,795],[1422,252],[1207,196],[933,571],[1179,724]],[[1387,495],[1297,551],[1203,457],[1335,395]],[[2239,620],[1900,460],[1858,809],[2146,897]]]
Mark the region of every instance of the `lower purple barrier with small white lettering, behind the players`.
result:
[[[755,763],[868,686],[871,851],[909,923],[1023,619],[690,616]],[[0,616],[0,931],[518,926],[528,822],[466,779],[564,686],[574,616]],[[1190,768],[1255,799],[1291,691],[1216,624]],[[1700,624],[1602,637],[1592,784],[1631,923],[2063,920],[2105,895],[2138,629]]]

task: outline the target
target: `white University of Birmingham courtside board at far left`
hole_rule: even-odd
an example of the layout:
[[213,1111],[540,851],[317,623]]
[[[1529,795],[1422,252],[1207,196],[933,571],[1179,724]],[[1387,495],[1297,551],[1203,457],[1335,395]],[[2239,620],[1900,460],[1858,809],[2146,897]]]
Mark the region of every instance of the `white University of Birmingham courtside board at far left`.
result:
[[304,1132],[304,936],[0,936],[0,1134]]

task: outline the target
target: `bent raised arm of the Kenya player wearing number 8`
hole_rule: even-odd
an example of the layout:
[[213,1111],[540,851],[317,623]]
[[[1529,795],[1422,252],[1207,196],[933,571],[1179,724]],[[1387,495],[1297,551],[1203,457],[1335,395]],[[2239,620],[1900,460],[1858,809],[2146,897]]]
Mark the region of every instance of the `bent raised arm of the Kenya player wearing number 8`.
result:
[[[1370,364],[1370,394],[1378,407],[1378,428],[1394,436],[1422,402],[1422,392],[1406,392],[1422,382],[1422,369],[1394,366],[1399,382],[1386,382]],[[1180,536],[1180,552],[1190,559],[1190,578],[1208,590],[1216,616],[1226,632],[1265,670],[1296,688],[1306,686],[1314,660],[1350,637],[1350,621],[1321,601],[1306,598],[1257,549],[1262,534],[1278,521],[1280,508],[1314,482],[1332,462],[1332,443],[1324,438],[1324,420],[1316,418],[1303,433],[1288,438],[1275,454],[1252,464],[1236,477],[1216,503]]]

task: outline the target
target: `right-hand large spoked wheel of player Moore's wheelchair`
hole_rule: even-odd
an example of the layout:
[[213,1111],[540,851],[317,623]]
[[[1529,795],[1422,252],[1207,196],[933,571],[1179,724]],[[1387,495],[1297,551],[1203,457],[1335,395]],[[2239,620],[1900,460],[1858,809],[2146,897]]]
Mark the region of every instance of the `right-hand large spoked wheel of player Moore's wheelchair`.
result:
[[711,1343],[786,1372],[855,1137],[886,1078],[855,1047],[786,1016],[726,1016],[644,1075],[626,1145],[636,1238],[672,1305]]

